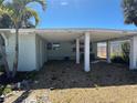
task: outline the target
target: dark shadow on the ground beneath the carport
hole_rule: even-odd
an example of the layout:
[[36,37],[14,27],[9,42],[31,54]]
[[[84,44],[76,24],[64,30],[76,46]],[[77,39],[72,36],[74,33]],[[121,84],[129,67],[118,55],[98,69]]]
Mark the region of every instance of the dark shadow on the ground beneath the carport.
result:
[[129,71],[122,64],[98,62],[91,65],[92,71],[85,73],[83,64],[73,61],[52,61],[44,65],[32,84],[32,89],[73,89],[118,86],[137,84],[137,71]]

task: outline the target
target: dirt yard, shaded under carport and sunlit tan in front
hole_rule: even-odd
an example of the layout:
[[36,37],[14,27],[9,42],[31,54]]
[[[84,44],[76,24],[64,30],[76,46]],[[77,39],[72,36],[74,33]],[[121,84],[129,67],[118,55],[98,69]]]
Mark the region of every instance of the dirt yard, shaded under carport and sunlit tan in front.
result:
[[28,96],[46,92],[48,103],[137,103],[136,71],[106,62],[92,64],[91,69],[85,73],[83,64],[72,61],[46,63]]

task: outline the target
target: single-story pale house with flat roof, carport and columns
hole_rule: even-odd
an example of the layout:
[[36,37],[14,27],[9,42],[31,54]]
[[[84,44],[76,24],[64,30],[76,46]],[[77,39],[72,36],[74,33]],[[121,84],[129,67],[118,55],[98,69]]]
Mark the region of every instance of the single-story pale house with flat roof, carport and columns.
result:
[[[10,69],[14,55],[13,29],[0,29],[6,43]],[[97,43],[107,42],[107,62],[110,63],[110,42],[130,40],[129,69],[137,69],[137,31],[110,29],[20,29],[19,71],[39,70],[50,60],[75,60],[83,58],[84,70],[91,70],[91,58],[97,58]]]

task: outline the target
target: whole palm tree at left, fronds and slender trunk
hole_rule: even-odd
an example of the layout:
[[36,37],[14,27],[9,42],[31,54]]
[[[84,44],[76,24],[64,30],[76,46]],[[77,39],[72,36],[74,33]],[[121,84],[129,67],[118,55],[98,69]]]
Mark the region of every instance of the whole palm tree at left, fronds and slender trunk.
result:
[[14,48],[14,61],[13,61],[13,70],[12,78],[15,75],[18,70],[18,58],[19,58],[19,30],[23,28],[30,20],[30,18],[35,19],[35,27],[39,23],[39,14],[35,10],[28,7],[28,4],[36,2],[42,6],[42,9],[45,10],[45,0],[9,0],[3,3],[1,8],[6,8],[7,12],[3,12],[0,9],[0,16],[7,14],[10,17],[13,28],[15,29],[15,48]]

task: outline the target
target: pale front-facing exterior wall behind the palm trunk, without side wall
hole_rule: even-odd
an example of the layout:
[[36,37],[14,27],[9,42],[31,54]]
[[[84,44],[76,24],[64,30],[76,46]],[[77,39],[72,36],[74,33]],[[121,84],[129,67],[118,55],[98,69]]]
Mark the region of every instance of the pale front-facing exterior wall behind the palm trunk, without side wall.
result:
[[[8,63],[10,70],[13,66],[14,58],[14,34],[10,34],[8,38],[8,44],[6,47]],[[35,66],[35,34],[21,34],[19,37],[19,70],[18,71],[33,71]]]

